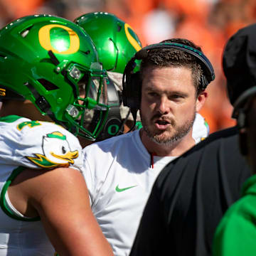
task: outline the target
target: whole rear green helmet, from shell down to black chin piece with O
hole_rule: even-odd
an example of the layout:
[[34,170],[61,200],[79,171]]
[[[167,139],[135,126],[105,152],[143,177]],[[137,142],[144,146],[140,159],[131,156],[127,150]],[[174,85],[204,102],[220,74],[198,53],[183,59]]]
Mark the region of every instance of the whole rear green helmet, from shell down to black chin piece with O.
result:
[[[102,132],[97,138],[98,140],[107,139],[122,133],[124,122],[129,117],[129,109],[120,105],[122,102],[122,73],[124,73],[124,68],[129,60],[142,48],[142,43],[131,26],[114,14],[89,13],[76,18],[74,22],[84,28],[92,38],[97,48],[99,61],[107,70],[109,78],[107,93],[112,95],[111,100],[109,98],[110,112]],[[139,63],[140,60],[136,60],[135,71],[139,70]],[[114,95],[117,96],[114,97]]]

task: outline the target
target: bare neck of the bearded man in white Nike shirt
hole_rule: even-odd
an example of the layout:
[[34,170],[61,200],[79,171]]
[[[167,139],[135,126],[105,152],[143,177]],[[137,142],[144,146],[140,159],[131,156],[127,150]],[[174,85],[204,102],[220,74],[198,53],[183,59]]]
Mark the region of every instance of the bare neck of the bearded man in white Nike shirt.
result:
[[139,135],[142,139],[142,144],[149,153],[154,153],[156,156],[181,156],[184,152],[196,144],[192,137],[192,129],[186,136],[171,144],[157,144],[153,142],[147,135],[144,129],[141,129]]

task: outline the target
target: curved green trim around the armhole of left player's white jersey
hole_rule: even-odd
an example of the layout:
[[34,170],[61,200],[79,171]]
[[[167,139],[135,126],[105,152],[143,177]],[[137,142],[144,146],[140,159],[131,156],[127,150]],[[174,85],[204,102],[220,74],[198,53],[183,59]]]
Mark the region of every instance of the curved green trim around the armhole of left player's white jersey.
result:
[[14,218],[16,220],[22,220],[22,221],[37,221],[37,220],[40,220],[39,217],[22,218],[18,215],[15,215],[6,204],[5,195],[6,195],[7,189],[11,185],[11,182],[14,181],[14,178],[16,178],[16,176],[18,176],[18,174],[21,174],[21,171],[23,171],[23,170],[24,170],[24,167],[19,166],[18,168],[14,169],[14,171],[12,171],[11,175],[7,179],[6,183],[4,184],[4,187],[2,188],[1,195],[0,195],[0,206],[1,206],[1,209],[4,211],[4,213],[6,213],[6,215],[8,215],[11,218]]

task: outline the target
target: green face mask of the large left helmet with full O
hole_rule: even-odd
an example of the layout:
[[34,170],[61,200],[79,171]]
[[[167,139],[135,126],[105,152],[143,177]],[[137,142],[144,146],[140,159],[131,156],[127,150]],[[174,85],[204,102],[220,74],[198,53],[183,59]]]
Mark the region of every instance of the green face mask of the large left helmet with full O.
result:
[[[95,63],[93,63],[95,64]],[[99,63],[97,63],[99,64]],[[78,135],[94,140],[104,126],[109,106],[107,105],[107,82],[98,72],[85,73],[78,82],[78,98],[73,105],[68,105],[66,118],[75,127],[79,124]]]

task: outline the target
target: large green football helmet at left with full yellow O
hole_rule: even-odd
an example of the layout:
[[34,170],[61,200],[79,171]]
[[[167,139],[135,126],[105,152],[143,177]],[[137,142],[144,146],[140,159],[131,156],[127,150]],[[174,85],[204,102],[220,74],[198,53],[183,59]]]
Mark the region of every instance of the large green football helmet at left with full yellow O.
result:
[[75,136],[100,134],[107,82],[90,36],[72,21],[26,16],[0,31],[0,100],[30,100]]

